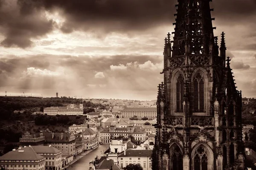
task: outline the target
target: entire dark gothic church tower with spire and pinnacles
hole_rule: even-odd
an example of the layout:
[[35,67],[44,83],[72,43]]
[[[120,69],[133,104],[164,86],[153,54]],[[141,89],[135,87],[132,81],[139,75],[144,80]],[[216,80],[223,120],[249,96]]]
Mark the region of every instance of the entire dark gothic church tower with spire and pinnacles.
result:
[[244,170],[241,109],[212,26],[211,0],[178,0],[175,31],[164,45],[152,170]]

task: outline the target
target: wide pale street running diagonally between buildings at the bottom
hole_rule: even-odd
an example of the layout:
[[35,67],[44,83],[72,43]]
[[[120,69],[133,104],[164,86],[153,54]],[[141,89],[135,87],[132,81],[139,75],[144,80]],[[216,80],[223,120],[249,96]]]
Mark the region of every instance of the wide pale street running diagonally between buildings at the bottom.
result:
[[96,156],[100,156],[106,149],[108,149],[109,144],[100,144],[95,150],[91,151],[87,155],[83,156],[78,161],[74,162],[72,165],[67,167],[67,170],[89,170],[89,162],[95,160]]

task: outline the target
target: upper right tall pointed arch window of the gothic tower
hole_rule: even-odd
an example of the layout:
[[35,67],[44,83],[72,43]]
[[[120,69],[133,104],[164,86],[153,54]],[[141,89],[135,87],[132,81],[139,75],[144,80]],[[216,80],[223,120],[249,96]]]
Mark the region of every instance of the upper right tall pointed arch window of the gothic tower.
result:
[[201,73],[193,79],[194,112],[204,112],[204,78]]

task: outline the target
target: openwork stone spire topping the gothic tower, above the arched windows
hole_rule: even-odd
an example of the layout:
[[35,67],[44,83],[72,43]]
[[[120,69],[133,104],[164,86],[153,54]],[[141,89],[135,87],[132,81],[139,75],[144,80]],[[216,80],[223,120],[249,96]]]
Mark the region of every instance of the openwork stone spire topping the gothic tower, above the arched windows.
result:
[[172,57],[190,54],[212,54],[214,36],[209,0],[179,0],[176,5]]

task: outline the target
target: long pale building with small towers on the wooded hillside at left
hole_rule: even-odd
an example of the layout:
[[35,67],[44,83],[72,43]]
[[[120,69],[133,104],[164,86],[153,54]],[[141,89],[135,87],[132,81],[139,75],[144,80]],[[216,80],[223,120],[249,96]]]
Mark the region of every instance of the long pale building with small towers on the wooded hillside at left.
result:
[[44,108],[44,114],[47,115],[83,115],[84,113],[84,107],[83,104],[80,103],[80,105],[75,105],[71,103],[70,105],[67,105],[67,107],[49,107]]

